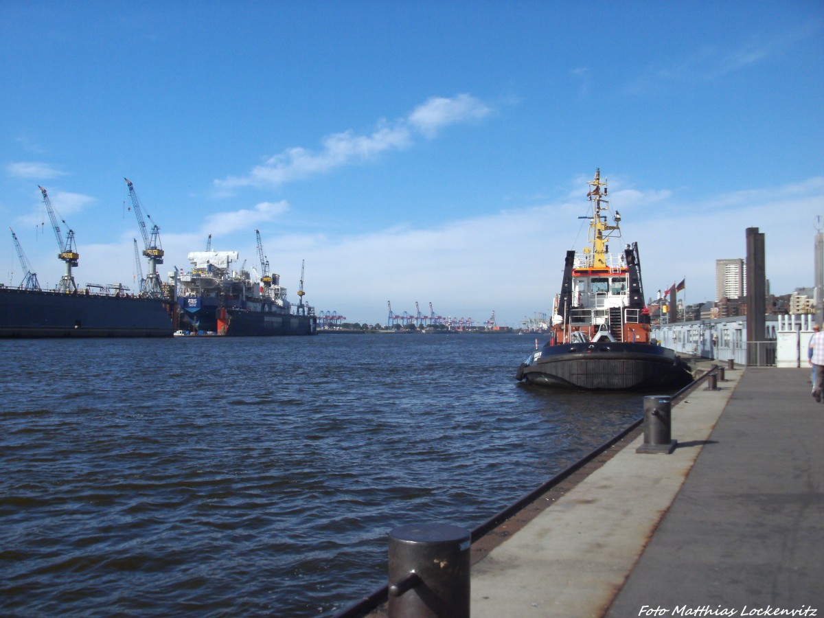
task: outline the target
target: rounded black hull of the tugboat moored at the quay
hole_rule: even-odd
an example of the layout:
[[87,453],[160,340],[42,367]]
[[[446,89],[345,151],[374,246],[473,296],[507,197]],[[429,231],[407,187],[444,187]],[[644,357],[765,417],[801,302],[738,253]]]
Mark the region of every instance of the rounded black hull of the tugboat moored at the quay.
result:
[[671,349],[620,342],[545,345],[521,364],[516,377],[587,391],[669,390],[692,382],[689,366]]

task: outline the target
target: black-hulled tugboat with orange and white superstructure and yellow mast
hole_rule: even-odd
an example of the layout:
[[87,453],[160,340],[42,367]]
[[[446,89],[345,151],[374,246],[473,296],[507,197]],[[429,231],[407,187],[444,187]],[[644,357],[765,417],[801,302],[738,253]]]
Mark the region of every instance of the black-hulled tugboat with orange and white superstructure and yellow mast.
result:
[[[620,213],[608,221],[606,178],[588,182],[589,246],[569,250],[555,297],[550,340],[531,353],[516,379],[588,391],[677,389],[692,381],[687,363],[650,337],[638,243],[610,254]],[[537,340],[536,340],[537,348]]]

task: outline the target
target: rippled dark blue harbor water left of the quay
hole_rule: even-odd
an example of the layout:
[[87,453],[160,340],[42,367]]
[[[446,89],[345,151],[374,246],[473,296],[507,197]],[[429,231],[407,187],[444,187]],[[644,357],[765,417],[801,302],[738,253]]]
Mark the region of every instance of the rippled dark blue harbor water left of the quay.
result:
[[[541,341],[541,343],[543,343]],[[532,335],[2,340],[0,611],[332,616],[643,414]]]

